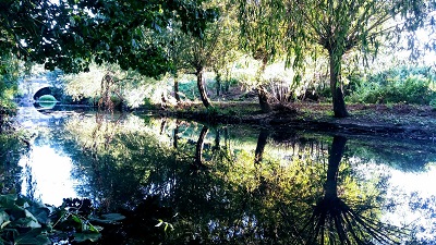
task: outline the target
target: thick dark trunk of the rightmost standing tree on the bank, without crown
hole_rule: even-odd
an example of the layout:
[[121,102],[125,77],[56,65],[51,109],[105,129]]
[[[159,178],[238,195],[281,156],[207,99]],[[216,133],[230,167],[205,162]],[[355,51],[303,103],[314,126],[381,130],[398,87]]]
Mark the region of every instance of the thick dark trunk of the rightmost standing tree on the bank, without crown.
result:
[[335,118],[348,117],[346,108],[346,101],[343,100],[342,83],[340,77],[342,53],[335,53],[329,50],[329,62],[330,62],[330,90],[334,102]]

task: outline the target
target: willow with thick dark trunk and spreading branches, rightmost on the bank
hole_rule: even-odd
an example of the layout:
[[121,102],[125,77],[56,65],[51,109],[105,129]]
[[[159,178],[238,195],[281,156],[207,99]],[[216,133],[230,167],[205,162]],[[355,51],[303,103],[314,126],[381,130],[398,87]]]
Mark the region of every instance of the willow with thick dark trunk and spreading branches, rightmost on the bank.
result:
[[[424,26],[433,3],[424,0],[298,0],[288,1],[288,20],[296,35],[292,50],[301,44],[317,44],[328,53],[334,113],[348,115],[342,93],[342,58],[352,50],[377,52],[384,37]],[[413,47],[413,46],[410,46]]]

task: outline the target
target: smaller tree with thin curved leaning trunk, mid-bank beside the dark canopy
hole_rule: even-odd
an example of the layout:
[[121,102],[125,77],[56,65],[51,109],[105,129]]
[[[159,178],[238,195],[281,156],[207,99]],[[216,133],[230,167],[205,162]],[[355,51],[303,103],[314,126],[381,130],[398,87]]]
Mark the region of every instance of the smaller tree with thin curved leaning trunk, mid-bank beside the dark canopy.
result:
[[[171,23],[171,28],[168,30],[168,36],[170,36],[168,49],[173,68],[196,76],[199,97],[206,108],[211,106],[205,88],[206,69],[218,71],[235,59],[233,48],[237,46],[235,28],[234,23],[229,20],[232,12],[228,11],[229,7],[225,4],[226,2],[211,2],[209,5],[213,8],[206,7],[205,11],[198,12],[201,20],[209,21],[204,25],[201,35],[184,30],[178,22]],[[211,9],[215,11],[210,11]],[[177,81],[174,93],[175,90]]]

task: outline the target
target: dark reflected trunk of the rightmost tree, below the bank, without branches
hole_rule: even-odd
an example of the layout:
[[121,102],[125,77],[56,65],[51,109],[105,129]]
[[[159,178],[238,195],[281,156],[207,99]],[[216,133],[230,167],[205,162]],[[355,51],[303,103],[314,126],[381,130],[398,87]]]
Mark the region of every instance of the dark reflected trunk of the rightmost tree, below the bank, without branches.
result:
[[324,186],[325,199],[331,200],[338,197],[339,164],[346,149],[347,138],[335,136],[328,157],[327,181]]

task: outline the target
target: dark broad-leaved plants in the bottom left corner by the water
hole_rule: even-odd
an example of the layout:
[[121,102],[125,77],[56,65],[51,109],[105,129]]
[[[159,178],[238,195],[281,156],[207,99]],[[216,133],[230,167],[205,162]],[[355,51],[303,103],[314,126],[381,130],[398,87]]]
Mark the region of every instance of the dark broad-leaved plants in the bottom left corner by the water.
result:
[[89,220],[112,223],[124,219],[119,213],[96,217],[92,211],[88,199],[64,199],[62,206],[52,207],[15,194],[0,195],[0,244],[95,242],[101,229]]

